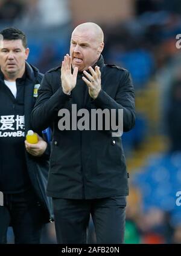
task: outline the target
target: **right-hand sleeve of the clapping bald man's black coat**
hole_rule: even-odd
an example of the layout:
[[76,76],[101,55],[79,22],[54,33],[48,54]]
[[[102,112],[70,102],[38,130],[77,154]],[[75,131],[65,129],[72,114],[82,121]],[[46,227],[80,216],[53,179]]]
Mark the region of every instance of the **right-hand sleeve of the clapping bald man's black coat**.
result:
[[135,126],[135,91],[129,71],[120,76],[118,91],[115,99],[112,99],[104,90],[93,100],[95,106],[101,109],[116,110],[116,122],[118,122],[118,110],[123,109],[123,131],[130,131]]

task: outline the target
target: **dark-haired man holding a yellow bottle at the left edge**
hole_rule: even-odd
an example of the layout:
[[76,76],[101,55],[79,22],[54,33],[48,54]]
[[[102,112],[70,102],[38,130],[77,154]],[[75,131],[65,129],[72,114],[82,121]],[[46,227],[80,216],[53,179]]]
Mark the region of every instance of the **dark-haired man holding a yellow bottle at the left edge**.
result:
[[49,149],[40,131],[39,142],[32,145],[25,134],[31,130],[31,110],[43,76],[26,62],[30,50],[21,30],[6,28],[0,34],[0,243],[6,243],[9,225],[14,243],[39,243],[43,224],[52,218],[45,193]]

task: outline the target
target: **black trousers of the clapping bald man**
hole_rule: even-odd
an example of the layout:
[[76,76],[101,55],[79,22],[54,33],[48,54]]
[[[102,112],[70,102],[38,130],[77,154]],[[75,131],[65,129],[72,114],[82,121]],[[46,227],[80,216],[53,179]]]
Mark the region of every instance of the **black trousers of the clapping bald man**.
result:
[[86,243],[90,214],[97,243],[123,243],[125,196],[105,199],[75,200],[53,198],[58,243]]

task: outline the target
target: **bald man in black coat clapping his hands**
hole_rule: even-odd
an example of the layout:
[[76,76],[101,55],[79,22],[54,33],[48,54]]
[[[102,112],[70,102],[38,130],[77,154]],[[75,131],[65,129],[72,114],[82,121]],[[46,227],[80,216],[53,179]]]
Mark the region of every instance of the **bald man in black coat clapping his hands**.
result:
[[112,122],[123,113],[122,130],[133,128],[135,94],[129,71],[104,64],[103,48],[97,24],[78,25],[62,65],[45,74],[32,113],[34,130],[53,127],[47,192],[58,243],[86,243],[90,214],[97,243],[124,242],[128,173]]

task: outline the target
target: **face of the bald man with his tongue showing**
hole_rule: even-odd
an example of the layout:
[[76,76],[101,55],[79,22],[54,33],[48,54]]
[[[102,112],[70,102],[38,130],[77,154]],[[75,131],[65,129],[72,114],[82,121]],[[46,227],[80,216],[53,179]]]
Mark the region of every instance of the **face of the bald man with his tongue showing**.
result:
[[100,57],[101,44],[89,31],[75,30],[72,33],[70,56],[72,57],[72,68],[78,67],[78,71],[87,70],[97,62]]

